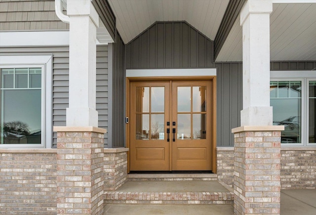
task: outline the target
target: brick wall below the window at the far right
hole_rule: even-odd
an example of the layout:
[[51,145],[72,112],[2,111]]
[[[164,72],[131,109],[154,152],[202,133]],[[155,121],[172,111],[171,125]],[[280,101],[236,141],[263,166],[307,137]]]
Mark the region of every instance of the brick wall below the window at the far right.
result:
[[282,189],[316,188],[316,149],[310,149],[281,149]]

